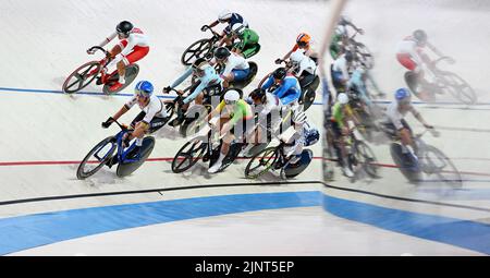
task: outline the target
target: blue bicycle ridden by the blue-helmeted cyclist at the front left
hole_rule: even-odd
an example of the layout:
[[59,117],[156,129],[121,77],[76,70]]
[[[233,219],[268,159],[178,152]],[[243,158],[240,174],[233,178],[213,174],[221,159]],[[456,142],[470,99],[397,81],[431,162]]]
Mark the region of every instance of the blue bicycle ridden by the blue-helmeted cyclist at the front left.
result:
[[[114,122],[121,128],[121,131],[113,136],[102,140],[88,152],[76,170],[76,178],[78,180],[84,180],[95,174],[106,165],[112,167],[115,162],[118,164],[118,169],[115,170],[117,176],[120,178],[126,177],[136,171],[151,154],[155,147],[155,137],[147,136],[143,138],[142,147],[135,154],[135,141],[127,147],[123,144],[126,134],[133,130],[115,120]],[[96,160],[89,160],[93,157]],[[94,168],[89,166],[94,166]],[[86,169],[87,167],[88,169]]]

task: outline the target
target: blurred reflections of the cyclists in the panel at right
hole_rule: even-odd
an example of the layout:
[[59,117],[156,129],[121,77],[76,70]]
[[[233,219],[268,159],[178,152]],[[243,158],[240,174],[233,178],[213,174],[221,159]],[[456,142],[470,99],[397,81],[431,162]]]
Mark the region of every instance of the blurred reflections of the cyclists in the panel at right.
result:
[[[366,107],[367,116],[375,117],[375,106],[371,95],[367,90],[367,80],[371,82],[373,88],[378,90],[378,96],[384,94],[379,89],[366,64],[357,59],[356,53],[351,51],[345,45],[348,38],[348,27],[356,33],[364,34],[362,28],[350,21],[346,16],[341,16],[335,34],[331,40],[330,52],[333,60],[331,64],[331,81],[335,90],[335,100],[331,102],[327,113],[329,120],[328,128],[333,132],[333,142],[338,148],[339,164],[346,177],[352,178],[353,171],[347,164],[346,136],[351,133],[351,126],[359,126],[360,120],[353,113],[350,106],[352,98],[357,97]],[[428,46],[438,56],[440,52],[427,41],[427,34],[421,29],[416,29],[412,36],[407,36],[399,44],[396,59],[409,71],[414,71],[419,76],[424,75],[421,50]],[[402,143],[403,155],[413,156],[418,159],[418,149],[413,140],[412,129],[404,120],[411,112],[427,129],[433,129],[428,124],[421,114],[412,105],[412,93],[408,88],[397,88],[394,92],[394,100],[385,108],[381,116],[377,116],[382,130],[388,130],[396,134]],[[350,122],[353,124],[350,124]],[[365,128],[365,126],[362,126]]]

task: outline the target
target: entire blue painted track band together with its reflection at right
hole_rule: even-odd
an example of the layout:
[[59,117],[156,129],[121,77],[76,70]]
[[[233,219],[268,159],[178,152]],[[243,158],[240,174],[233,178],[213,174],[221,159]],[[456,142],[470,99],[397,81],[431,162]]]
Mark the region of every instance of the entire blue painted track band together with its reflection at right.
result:
[[0,219],[0,254],[97,233],[199,217],[321,205],[342,218],[490,254],[490,225],[385,208],[320,192],[238,194],[54,211]]

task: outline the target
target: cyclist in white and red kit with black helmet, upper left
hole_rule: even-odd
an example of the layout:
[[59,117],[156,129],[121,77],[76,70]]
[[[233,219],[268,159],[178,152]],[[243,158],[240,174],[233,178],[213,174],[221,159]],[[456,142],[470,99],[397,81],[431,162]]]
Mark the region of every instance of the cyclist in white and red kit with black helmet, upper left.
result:
[[[120,39],[119,44],[115,45],[110,51],[110,56],[113,59],[106,69],[102,69],[102,75],[98,80],[97,84],[102,84],[109,77],[107,74],[107,69],[117,65],[119,73],[119,81],[110,87],[110,90],[120,89],[125,83],[125,68],[132,63],[142,60],[149,52],[149,44],[147,36],[142,29],[136,28],[128,21],[123,21],[115,26],[115,32],[107,37],[100,47],[105,47],[112,39],[118,37]],[[87,53],[93,55],[94,52],[87,50]]]

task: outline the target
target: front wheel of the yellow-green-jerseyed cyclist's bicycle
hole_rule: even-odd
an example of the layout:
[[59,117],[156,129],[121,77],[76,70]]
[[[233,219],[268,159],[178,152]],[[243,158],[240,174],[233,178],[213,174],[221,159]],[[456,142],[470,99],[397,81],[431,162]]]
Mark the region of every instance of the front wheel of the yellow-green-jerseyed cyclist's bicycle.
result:
[[189,141],[179,149],[172,160],[172,172],[184,172],[193,167],[205,154],[208,143],[201,141]]

